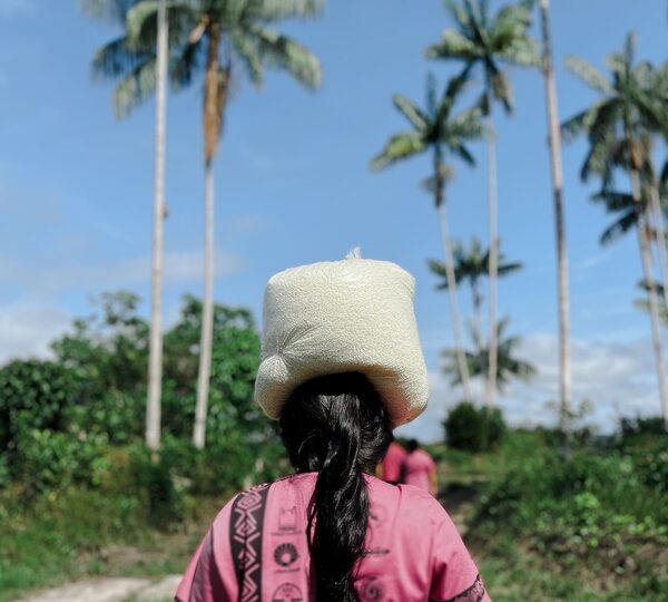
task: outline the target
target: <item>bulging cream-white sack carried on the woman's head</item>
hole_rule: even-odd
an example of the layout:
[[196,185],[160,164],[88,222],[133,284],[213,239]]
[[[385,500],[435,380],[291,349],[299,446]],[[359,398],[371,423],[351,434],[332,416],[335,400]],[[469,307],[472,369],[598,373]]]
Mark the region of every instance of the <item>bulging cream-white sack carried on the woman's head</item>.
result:
[[406,271],[358,253],[274,275],[264,298],[256,401],[278,419],[299,385],[356,371],[372,382],[393,426],[415,418],[426,407],[429,378],[413,293]]

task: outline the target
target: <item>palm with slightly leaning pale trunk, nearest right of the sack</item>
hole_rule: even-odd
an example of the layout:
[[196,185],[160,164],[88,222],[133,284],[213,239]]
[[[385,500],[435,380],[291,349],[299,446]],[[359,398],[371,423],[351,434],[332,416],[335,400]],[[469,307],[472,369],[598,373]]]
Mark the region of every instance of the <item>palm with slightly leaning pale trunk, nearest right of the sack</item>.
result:
[[468,80],[468,71],[451,79],[441,99],[438,98],[436,85],[431,74],[426,78],[426,108],[415,104],[400,94],[394,95],[393,103],[399,111],[410,122],[412,129],[393,135],[385,147],[371,162],[372,169],[383,169],[399,161],[429,152],[432,155],[433,175],[426,181],[428,190],[434,195],[436,211],[440,215],[441,241],[445,254],[445,270],[449,282],[450,312],[452,331],[456,348],[459,367],[462,375],[462,387],[466,399],[471,399],[469,373],[463,351],[460,329],[459,307],[456,302],[456,283],[452,263],[452,249],[445,204],[445,184],[453,177],[452,166],[445,163],[445,155],[452,155],[466,165],[475,165],[473,155],[466,147],[471,140],[484,134],[480,109],[471,108],[453,115],[454,104]]

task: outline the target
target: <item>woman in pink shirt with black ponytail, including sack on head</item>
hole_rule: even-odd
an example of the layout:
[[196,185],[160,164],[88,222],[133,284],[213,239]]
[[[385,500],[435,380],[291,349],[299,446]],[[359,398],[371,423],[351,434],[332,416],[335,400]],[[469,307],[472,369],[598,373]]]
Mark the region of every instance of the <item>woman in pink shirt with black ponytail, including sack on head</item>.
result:
[[272,278],[255,396],[296,473],[223,508],[177,601],[489,601],[440,504],[371,476],[426,405],[410,274],[353,254]]

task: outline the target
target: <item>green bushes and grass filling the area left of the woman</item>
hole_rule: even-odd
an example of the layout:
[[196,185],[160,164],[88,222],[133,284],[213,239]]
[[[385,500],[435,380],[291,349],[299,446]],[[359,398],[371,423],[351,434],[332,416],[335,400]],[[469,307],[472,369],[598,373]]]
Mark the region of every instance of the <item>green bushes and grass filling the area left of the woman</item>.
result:
[[87,574],[179,573],[217,509],[286,469],[253,402],[250,313],[217,305],[208,445],[190,441],[202,304],[165,334],[163,446],[144,443],[148,326],[131,293],[0,369],[0,601]]

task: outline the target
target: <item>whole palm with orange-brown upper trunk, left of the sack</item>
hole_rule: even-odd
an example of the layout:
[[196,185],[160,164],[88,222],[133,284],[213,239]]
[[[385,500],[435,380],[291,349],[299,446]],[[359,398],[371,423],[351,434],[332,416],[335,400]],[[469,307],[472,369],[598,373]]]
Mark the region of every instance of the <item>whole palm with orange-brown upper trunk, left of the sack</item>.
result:
[[[120,0],[122,2],[122,0]],[[264,69],[275,67],[299,84],[315,88],[321,81],[317,57],[294,39],[269,28],[288,18],[308,19],[321,12],[321,0],[173,0],[169,2],[170,78],[175,89],[203,76],[205,171],[204,312],[197,378],[193,441],[204,447],[212,357],[214,288],[214,171],[213,161],[223,133],[233,79],[245,75],[261,88]],[[157,4],[138,0],[126,12],[124,35],[100,48],[95,70],[118,79],[114,101],[127,115],[155,89],[154,46]]]

